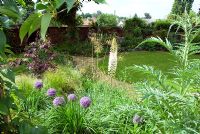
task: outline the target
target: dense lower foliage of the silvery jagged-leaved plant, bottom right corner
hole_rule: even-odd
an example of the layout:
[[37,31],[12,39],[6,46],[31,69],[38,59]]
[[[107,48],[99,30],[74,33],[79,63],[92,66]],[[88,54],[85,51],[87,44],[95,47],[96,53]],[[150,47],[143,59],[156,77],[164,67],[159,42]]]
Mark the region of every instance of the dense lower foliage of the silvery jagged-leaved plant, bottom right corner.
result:
[[[144,118],[143,127],[153,133],[199,132],[199,98],[192,94],[190,82],[186,79],[178,81],[180,75],[167,79],[161,71],[148,66],[134,66],[133,69],[148,73],[153,78],[136,87],[142,97],[135,112]],[[192,78],[191,75],[189,77]]]

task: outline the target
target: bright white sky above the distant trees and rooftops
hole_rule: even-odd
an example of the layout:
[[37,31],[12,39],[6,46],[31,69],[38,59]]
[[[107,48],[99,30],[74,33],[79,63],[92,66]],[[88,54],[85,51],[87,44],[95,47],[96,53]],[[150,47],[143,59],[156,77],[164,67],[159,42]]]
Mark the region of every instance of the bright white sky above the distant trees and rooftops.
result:
[[[95,13],[98,10],[103,13],[116,14],[123,17],[133,17],[135,13],[143,17],[144,13],[150,13],[153,19],[166,18],[170,13],[174,0],[106,0],[107,4],[95,4],[84,2],[81,8],[83,13]],[[198,12],[200,0],[194,0],[193,10]]]

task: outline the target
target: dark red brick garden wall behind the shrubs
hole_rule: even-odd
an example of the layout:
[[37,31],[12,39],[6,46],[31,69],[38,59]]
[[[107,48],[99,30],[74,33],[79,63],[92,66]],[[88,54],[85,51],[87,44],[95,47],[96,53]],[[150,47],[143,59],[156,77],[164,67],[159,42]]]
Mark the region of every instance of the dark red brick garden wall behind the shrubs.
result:
[[[91,29],[93,29],[94,32],[98,31],[97,29],[89,26],[81,26],[76,28],[78,31],[76,37],[78,37],[80,41],[86,41],[88,39],[89,31]],[[123,36],[123,29],[120,27],[101,28],[100,30],[103,33],[107,34],[115,33],[117,36],[120,37]],[[19,28],[9,29],[6,31],[6,33],[7,33],[8,44],[12,47],[12,50],[14,52],[21,52],[23,48],[26,46],[26,44],[35,41],[38,35],[38,32],[35,32],[29,38],[25,38],[23,43],[21,43],[19,38]],[[47,34],[53,44],[62,43],[67,39],[74,40],[73,38],[69,38],[68,36],[68,34],[73,35],[73,33],[69,33],[68,27],[49,27]]]

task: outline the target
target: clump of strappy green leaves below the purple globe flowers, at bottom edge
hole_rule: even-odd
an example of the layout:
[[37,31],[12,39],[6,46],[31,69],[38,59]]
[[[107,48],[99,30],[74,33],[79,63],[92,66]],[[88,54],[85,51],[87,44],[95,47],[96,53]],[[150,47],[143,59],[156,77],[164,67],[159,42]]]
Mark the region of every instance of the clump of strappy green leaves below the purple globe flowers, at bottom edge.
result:
[[86,112],[77,101],[67,102],[62,107],[52,107],[46,120],[49,133],[88,133],[85,126]]

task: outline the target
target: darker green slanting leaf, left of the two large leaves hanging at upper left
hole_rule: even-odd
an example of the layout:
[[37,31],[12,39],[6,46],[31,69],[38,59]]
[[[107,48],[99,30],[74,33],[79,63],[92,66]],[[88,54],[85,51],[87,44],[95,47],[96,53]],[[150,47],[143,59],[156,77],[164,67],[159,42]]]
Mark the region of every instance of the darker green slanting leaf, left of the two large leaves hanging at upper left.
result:
[[[37,20],[40,17],[40,13],[34,13],[31,14],[22,24],[22,26],[20,27],[20,31],[19,31],[19,36],[21,39],[21,42],[23,41],[24,37],[26,36],[27,33],[33,33],[33,30],[37,30],[36,28],[31,28],[33,22],[35,22],[35,20]],[[40,23],[40,22],[38,22]],[[31,32],[30,31],[31,28]]]

